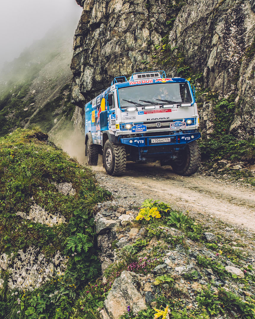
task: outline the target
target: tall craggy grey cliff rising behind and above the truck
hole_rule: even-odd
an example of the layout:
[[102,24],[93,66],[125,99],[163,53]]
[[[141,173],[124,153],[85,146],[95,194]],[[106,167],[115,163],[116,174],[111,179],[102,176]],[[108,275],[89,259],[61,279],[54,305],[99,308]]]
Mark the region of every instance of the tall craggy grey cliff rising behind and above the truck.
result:
[[[184,59],[183,65],[201,74],[197,85],[216,91],[220,98],[235,96],[232,132],[239,137],[255,134],[254,1],[188,0],[181,5],[168,0],[77,0],[77,4],[83,6],[71,63],[77,106],[83,108],[84,101],[114,77],[129,76],[147,61],[155,69],[164,68],[167,76],[181,76],[176,63],[161,59],[167,44]],[[84,113],[77,111],[75,116],[80,125]],[[209,135],[214,119],[210,103],[200,107],[200,117],[201,128]]]

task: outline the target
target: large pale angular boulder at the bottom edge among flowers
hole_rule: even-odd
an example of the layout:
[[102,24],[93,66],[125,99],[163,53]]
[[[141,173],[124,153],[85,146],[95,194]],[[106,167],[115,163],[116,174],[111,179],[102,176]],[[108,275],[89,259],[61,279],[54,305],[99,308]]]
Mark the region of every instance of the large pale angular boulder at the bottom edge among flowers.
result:
[[145,300],[136,288],[137,275],[134,272],[122,271],[113,282],[112,289],[104,301],[104,309],[100,312],[101,319],[119,319],[127,312],[128,306],[135,314],[147,309]]

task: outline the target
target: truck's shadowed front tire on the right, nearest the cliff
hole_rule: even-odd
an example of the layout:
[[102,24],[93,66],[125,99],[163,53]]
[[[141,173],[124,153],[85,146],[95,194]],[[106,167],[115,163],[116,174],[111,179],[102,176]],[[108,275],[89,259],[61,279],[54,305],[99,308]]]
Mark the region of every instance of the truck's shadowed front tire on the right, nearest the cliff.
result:
[[190,176],[197,172],[201,163],[201,152],[197,141],[188,143],[179,151],[178,158],[171,162],[174,173],[183,176]]

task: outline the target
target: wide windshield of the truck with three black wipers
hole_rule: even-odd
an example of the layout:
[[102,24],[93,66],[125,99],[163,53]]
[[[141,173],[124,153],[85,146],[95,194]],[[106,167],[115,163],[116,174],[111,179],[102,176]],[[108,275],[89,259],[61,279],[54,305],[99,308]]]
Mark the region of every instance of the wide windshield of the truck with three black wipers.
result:
[[120,108],[130,105],[173,104],[191,102],[187,83],[160,83],[137,85],[119,89]]

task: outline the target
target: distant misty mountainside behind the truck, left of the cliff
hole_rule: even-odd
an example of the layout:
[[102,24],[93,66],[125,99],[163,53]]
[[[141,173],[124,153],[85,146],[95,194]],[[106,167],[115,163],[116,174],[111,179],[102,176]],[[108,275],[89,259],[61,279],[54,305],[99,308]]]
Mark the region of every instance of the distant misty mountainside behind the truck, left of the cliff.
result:
[[0,135],[35,123],[46,132],[61,119],[69,124],[74,111],[70,61],[75,24],[67,20],[55,27],[1,70]]

